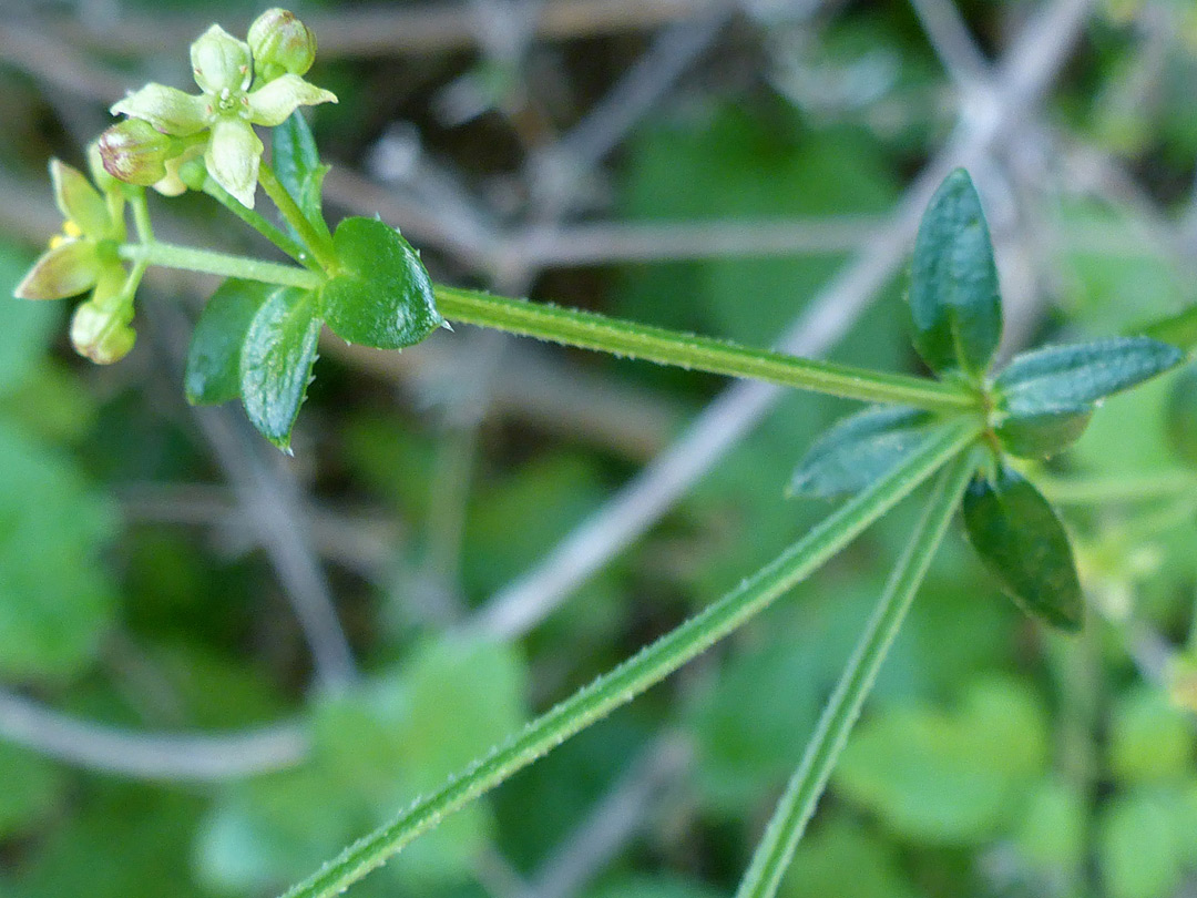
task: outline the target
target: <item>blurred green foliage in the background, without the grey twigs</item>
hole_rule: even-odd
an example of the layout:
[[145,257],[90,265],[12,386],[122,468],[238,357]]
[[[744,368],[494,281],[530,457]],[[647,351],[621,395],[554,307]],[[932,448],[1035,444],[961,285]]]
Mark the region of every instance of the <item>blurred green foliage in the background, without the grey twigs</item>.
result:
[[[160,4],[128,6],[141,17],[164,12]],[[195,2],[165,6],[215,14]],[[1032,4],[960,6],[984,47],[997,48],[1013,29],[1007,17]],[[1179,214],[1197,156],[1191,10],[1163,0],[1099,6],[1049,116],[1112,154],[1153,201]],[[1159,65],[1157,84],[1141,96],[1150,79],[1136,17],[1146,8],[1177,18],[1147,60]],[[560,66],[558,80],[577,80],[579,105],[563,121],[576,120],[649,40],[590,37],[537,55],[536,65]],[[883,214],[952,126],[949,87],[906,4],[847,5],[801,29],[745,18],[721,47],[727,60],[704,66],[620,145],[600,178],[606,205],[596,216],[669,223]],[[166,78],[158,74],[166,50],[180,48],[152,48],[145,71]],[[145,74],[115,54],[93,61]],[[751,75],[730,71],[741,62]],[[476,74],[472,65],[468,54],[329,62],[328,84],[342,103],[315,117],[326,156],[365,158],[389,122],[411,120],[426,150],[456,165],[463,182],[510,202],[510,183],[492,178],[519,165],[506,120],[492,110],[450,127],[429,111],[438,90]],[[42,178],[51,152],[78,160],[80,125],[55,105],[61,98],[7,68],[0,80],[0,109],[12,122],[0,135],[6,177]],[[516,72],[487,84],[502,95],[536,80]],[[546,101],[553,110],[569,102],[555,93]],[[102,105],[80,115],[102,125]],[[1057,162],[1053,176],[1073,171]],[[1144,238],[1134,208],[1071,182],[1032,193],[1035,227],[1047,231],[1034,232],[1046,289],[1027,340],[1114,335],[1197,298],[1191,260]],[[213,230],[203,208],[193,204],[188,220],[198,242]],[[1070,237],[1077,233],[1104,239],[1094,248]],[[17,236],[0,243],[0,280],[10,287],[31,259],[28,249]],[[438,275],[460,275],[452,260],[426,257]],[[531,292],[762,345],[843,260],[609,266],[554,272]],[[643,449],[494,414],[467,447],[466,487],[454,493],[440,474],[469,442],[455,417],[457,384],[413,388],[405,380],[402,396],[414,396],[406,401],[356,363],[326,359],[291,473],[317,524],[341,526],[317,526],[315,544],[363,678],[340,694],[314,693],[285,593],[181,404],[169,318],[151,314],[129,360],[99,370],[65,351],[61,305],[10,295],[0,291],[4,688],[132,734],[294,716],[311,747],[302,764],[267,775],[156,783],[0,740],[0,898],[269,894],[705,606],[832,508],[788,502],[782,491],[819,431],[851,407],[788,396],[541,627],[515,644],[469,642],[446,635],[446,621],[466,618],[600,508],[638,469]],[[163,289],[145,302],[152,313],[186,305]],[[403,358],[418,360],[421,351]],[[882,291],[833,354],[918,370],[900,283]],[[722,387],[618,359],[551,357],[627,402],[660,402],[678,420]],[[466,380],[468,366],[460,368]],[[1186,463],[1167,439],[1171,390],[1165,378],[1111,399],[1076,447],[1051,462],[1052,473],[1131,475]],[[165,512],[139,506],[146,490],[163,491]],[[1093,609],[1089,629],[1073,641],[1028,625],[959,535],[949,536],[784,898],[1171,898],[1191,890],[1193,715],[1175,700],[1183,690],[1169,692],[1168,672],[1153,680],[1135,654],[1136,627],[1146,627],[1193,662],[1197,506],[1186,511],[1185,500],[1069,509]],[[916,514],[897,509],[725,645],[421,838],[351,894],[518,898],[496,874],[496,857],[512,881],[533,881],[663,733],[688,739],[693,762],[581,894],[728,894]],[[371,548],[377,518],[390,527]],[[437,566],[446,556],[449,570]]]

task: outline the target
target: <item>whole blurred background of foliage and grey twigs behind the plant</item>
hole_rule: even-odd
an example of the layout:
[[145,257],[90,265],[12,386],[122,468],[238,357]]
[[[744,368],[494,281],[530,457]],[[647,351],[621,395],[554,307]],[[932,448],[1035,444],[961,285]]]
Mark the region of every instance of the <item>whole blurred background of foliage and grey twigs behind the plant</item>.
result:
[[[0,2],[0,278],[45,174],[262,5]],[[1183,309],[1189,0],[303,2],[326,208],[437,279],[918,371],[903,274],[966,165],[1005,352]],[[263,200],[265,202],[265,200]],[[268,254],[203,196],[168,238]],[[326,335],[294,457],[181,358],[215,286],[156,272],[138,346],[0,291],[0,896],[269,896],[752,574],[852,406],[458,327]],[[1045,480],[1090,605],[1046,633],[949,536],[785,898],[1197,894],[1197,475],[1153,383]],[[1111,502],[1094,502],[1110,498]],[[916,503],[917,505],[917,503]],[[917,508],[352,896],[730,894]]]

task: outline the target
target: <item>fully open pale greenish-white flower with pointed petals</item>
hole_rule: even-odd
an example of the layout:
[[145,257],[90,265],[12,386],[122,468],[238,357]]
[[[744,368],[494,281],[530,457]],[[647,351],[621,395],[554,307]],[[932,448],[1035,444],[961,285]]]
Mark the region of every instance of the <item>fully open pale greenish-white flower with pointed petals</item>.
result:
[[251,91],[254,59],[249,44],[219,25],[192,44],[192,71],[200,95],[147,84],[111,111],[141,119],[171,136],[190,138],[206,132],[203,162],[208,174],[253,208],[263,150],[254,126],[281,125],[298,107],[335,103],[336,96],[291,73]]

